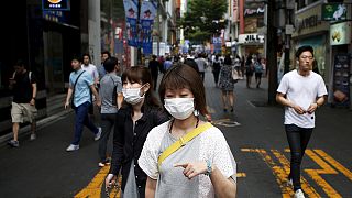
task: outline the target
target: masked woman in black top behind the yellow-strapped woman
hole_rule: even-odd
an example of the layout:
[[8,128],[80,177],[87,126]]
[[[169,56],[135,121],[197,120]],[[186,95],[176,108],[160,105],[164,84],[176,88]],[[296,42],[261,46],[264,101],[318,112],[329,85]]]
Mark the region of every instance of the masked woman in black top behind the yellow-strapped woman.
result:
[[113,133],[113,152],[107,189],[117,183],[121,169],[121,197],[145,197],[146,175],[140,168],[140,157],[145,139],[152,128],[168,120],[158,100],[153,96],[148,68],[134,66],[122,74],[124,103],[118,111]]

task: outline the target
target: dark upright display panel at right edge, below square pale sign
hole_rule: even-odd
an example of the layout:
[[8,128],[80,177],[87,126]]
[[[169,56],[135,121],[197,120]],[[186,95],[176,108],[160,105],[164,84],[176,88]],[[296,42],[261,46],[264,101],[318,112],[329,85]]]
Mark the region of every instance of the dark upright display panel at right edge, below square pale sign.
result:
[[350,105],[350,55],[337,54],[333,66],[333,101],[336,106]]

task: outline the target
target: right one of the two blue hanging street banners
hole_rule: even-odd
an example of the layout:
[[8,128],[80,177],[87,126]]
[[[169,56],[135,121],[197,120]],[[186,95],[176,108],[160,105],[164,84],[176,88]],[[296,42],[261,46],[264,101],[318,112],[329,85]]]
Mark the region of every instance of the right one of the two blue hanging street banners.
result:
[[140,46],[145,55],[153,53],[153,24],[156,16],[157,2],[143,1],[141,4]]

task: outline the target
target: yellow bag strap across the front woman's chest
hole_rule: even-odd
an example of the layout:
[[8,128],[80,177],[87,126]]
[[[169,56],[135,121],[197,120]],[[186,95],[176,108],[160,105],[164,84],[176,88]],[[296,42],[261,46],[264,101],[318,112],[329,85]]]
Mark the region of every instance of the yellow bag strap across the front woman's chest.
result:
[[207,129],[211,128],[212,124],[207,122],[205,124],[199,125],[198,128],[188,132],[185,136],[182,136],[174,144],[168,146],[157,158],[158,167],[161,167],[163,161],[165,161],[170,154],[175,153],[178,148],[186,145],[187,142],[191,141],[194,138],[205,132]]

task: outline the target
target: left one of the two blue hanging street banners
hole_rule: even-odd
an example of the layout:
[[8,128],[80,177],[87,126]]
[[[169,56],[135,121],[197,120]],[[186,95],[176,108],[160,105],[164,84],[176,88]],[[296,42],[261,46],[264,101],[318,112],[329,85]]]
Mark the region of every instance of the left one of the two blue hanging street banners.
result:
[[138,47],[138,0],[123,0],[125,13],[125,29],[128,32],[128,44]]

